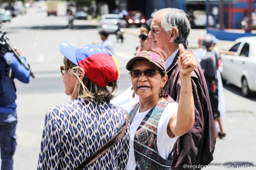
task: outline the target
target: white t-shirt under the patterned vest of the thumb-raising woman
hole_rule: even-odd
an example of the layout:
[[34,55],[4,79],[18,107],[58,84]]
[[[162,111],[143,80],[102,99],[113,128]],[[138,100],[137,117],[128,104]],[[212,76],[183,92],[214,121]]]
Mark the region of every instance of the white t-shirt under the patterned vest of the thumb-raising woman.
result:
[[[134,157],[134,135],[136,130],[138,129],[141,121],[144,119],[144,117],[148,114],[150,111],[144,111],[139,112],[140,108],[137,110],[136,115],[134,116],[134,119],[132,121],[132,124],[130,125],[130,152],[129,152],[129,160],[127,164],[127,170],[135,170],[136,168],[136,162]],[[178,110],[178,103],[177,102],[171,102],[169,103],[161,117],[158,123],[157,128],[157,148],[160,156],[162,156],[165,159],[168,159],[170,153],[172,152],[172,149],[174,147],[174,144],[178,138],[178,136],[175,136],[173,138],[170,138],[167,134],[167,125],[170,120],[170,117],[173,113],[175,113]]]

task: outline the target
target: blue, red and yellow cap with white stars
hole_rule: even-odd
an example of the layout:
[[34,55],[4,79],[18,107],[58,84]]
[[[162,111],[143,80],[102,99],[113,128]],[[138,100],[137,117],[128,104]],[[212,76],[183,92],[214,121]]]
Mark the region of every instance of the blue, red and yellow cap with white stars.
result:
[[106,87],[109,82],[120,77],[118,62],[105,47],[89,44],[78,48],[67,41],[62,41],[59,50],[64,57],[83,68],[86,77],[100,87]]

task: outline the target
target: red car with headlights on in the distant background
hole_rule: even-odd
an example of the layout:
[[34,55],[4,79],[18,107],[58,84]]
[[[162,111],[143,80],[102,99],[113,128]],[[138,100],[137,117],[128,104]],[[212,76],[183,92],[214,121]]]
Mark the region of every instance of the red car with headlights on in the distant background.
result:
[[128,27],[130,25],[137,25],[138,27],[146,21],[146,17],[140,11],[128,11],[126,16]]

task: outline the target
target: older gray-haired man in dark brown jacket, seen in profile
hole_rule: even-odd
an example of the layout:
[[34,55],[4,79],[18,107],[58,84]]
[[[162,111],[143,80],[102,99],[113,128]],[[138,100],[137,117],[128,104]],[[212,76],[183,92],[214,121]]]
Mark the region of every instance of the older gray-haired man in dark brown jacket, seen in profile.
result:
[[[209,94],[200,64],[190,74],[192,89],[186,92],[180,90],[178,45],[182,44],[188,50],[187,38],[191,29],[188,15],[183,10],[176,8],[158,10],[153,18],[151,28],[148,37],[152,38],[152,50],[159,53],[166,63],[168,82],[164,86],[164,91],[176,101],[179,101],[181,95],[187,93],[193,93],[194,96],[194,126],[178,138],[174,147],[171,169],[184,169],[185,164],[188,166],[207,165],[213,160],[212,154],[216,137]],[[192,53],[186,55],[189,55],[191,60],[195,58]],[[197,169],[201,169],[200,166],[197,166]]]

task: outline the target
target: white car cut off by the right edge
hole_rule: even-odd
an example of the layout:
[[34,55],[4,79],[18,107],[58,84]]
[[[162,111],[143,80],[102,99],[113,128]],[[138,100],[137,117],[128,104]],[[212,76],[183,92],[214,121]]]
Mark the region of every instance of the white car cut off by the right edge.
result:
[[228,49],[234,55],[222,54],[222,79],[242,89],[244,96],[256,92],[256,37],[236,39]]

